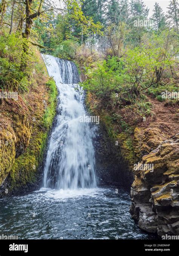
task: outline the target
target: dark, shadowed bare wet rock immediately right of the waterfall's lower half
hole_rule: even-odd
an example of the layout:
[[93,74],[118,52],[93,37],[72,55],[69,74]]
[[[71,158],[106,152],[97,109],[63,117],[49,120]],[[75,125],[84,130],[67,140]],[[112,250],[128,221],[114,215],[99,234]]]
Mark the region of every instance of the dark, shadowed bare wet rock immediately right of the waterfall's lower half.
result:
[[129,189],[133,182],[133,172],[122,157],[120,141],[108,135],[105,125],[100,125],[94,132],[95,170],[98,185],[115,185]]

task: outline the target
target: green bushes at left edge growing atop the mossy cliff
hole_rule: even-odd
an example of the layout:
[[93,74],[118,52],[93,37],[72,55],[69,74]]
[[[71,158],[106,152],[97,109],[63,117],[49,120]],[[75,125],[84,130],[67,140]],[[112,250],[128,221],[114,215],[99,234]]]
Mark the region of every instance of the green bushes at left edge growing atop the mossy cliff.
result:
[[[39,68],[39,57],[34,46],[29,47],[27,67],[21,69],[23,62],[23,38],[19,33],[0,35],[0,88],[25,93],[33,80],[33,71]],[[35,61],[34,61],[35,59]]]

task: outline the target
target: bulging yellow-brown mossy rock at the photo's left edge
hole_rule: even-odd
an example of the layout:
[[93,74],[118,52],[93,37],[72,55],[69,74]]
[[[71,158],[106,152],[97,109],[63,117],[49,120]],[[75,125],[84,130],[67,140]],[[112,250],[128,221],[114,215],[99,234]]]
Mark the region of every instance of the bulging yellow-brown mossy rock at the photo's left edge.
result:
[[[22,103],[22,99],[19,99]],[[15,162],[15,158],[27,148],[31,136],[29,119],[20,111],[12,99],[2,101],[2,125],[0,126],[0,184],[3,184]],[[25,111],[28,111],[25,108]],[[6,118],[8,115],[8,118]],[[3,123],[6,123],[4,126]]]

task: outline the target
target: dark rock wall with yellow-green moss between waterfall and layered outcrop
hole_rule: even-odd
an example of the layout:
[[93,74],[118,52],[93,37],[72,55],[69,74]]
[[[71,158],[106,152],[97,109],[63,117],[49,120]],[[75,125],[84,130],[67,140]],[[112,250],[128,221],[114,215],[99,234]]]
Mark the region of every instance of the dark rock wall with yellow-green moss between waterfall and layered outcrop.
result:
[[90,93],[86,95],[89,115],[99,115],[94,138],[96,173],[99,185],[122,186],[130,190],[133,182],[134,149],[133,137],[125,132],[118,133],[111,116],[95,108],[97,102]]

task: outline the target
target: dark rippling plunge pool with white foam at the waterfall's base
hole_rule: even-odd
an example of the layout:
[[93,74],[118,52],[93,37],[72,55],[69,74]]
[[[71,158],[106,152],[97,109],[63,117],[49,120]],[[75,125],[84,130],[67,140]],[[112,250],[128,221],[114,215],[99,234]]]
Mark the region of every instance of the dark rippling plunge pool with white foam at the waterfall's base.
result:
[[116,188],[40,191],[0,200],[0,230],[18,239],[152,239],[129,213]]

